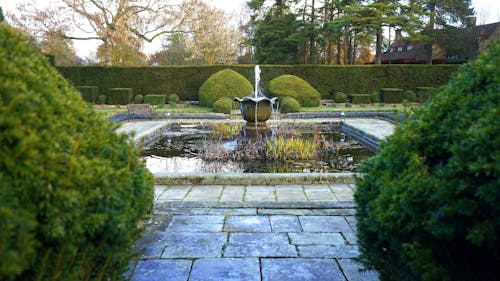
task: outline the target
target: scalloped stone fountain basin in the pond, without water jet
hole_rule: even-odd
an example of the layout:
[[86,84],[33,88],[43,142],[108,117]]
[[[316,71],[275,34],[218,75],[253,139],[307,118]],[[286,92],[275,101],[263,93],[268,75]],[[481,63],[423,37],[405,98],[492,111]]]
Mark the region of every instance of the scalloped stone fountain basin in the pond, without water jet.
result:
[[244,97],[234,100],[240,103],[241,116],[247,121],[247,125],[265,125],[271,118],[273,104],[277,98]]

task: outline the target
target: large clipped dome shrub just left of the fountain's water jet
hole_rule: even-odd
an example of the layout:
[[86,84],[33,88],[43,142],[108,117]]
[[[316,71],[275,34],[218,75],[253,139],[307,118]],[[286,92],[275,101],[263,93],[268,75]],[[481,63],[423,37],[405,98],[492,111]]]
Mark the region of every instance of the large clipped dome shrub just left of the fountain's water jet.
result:
[[212,106],[221,97],[242,98],[251,95],[252,84],[244,76],[231,69],[221,70],[203,83],[199,91],[201,106]]

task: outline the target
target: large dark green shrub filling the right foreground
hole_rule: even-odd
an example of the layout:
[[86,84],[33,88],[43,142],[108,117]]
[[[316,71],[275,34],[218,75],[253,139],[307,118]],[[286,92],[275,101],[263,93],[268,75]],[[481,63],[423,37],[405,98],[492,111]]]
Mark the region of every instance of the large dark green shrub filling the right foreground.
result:
[[496,280],[500,43],[464,65],[362,167],[362,261],[381,280]]

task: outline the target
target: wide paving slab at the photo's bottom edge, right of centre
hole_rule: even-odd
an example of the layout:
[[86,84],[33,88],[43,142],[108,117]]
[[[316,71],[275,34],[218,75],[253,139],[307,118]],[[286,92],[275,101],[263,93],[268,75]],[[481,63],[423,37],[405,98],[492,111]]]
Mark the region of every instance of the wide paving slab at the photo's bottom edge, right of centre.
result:
[[262,259],[263,281],[345,281],[333,259]]

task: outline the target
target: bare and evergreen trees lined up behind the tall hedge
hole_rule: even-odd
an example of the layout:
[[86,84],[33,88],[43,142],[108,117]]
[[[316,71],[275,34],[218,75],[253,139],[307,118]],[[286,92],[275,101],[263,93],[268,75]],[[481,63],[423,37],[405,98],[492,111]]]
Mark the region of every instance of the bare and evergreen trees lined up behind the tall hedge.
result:
[[[5,21],[60,66],[341,65],[381,63],[396,31],[431,45],[473,16],[471,0],[249,0],[232,17],[202,0],[56,0]],[[98,40],[95,56],[78,57],[74,40]]]

